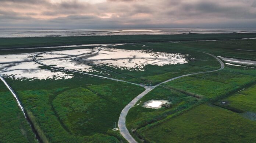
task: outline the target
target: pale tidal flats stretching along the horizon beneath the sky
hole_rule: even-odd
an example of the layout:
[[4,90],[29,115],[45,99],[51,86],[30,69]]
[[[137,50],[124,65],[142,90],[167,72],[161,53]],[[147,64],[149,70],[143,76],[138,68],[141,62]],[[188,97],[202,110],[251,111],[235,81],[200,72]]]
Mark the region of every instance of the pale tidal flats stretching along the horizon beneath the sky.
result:
[[0,38],[256,33],[256,28],[0,29]]

